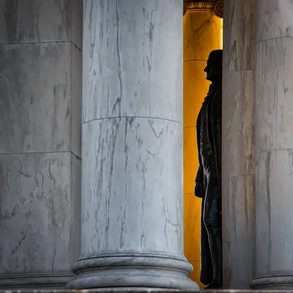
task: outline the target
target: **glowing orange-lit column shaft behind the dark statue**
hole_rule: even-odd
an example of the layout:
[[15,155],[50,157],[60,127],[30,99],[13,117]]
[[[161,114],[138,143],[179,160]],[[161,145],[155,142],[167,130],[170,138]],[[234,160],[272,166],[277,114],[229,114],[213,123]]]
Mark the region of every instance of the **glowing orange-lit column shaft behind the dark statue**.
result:
[[204,72],[209,53],[220,49],[220,20],[212,10],[204,10],[200,6],[188,9],[183,18],[184,249],[193,266],[190,277],[201,288],[205,287],[199,280],[201,199],[194,196],[198,169],[196,119],[209,91],[210,82]]

